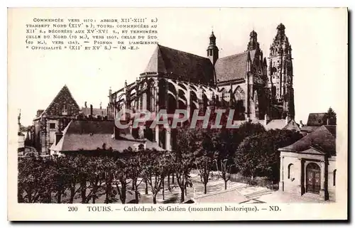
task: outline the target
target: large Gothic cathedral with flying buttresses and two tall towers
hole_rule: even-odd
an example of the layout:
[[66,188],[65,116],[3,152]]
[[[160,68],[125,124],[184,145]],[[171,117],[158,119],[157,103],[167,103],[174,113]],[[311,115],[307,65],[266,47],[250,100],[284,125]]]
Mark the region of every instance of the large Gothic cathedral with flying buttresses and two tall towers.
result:
[[[246,50],[219,58],[216,36],[209,36],[206,57],[157,45],[146,69],[135,82],[109,91],[108,118],[122,109],[209,109],[211,105],[234,109],[234,121],[257,121],[267,125],[295,117],[292,48],[280,23],[268,59],[251,31]],[[129,119],[127,119],[129,121]],[[285,125],[284,124],[284,125]],[[133,132],[132,132],[133,134]],[[171,149],[169,129],[143,129],[143,138]],[[139,137],[139,136],[137,136]]]

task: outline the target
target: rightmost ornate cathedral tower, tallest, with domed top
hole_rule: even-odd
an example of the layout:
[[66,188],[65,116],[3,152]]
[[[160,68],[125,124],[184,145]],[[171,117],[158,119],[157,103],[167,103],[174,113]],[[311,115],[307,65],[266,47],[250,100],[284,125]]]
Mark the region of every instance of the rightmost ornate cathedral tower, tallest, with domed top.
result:
[[278,117],[294,118],[292,48],[285,36],[285,26],[280,23],[277,30],[268,58],[268,87],[271,89],[271,102],[278,109]]

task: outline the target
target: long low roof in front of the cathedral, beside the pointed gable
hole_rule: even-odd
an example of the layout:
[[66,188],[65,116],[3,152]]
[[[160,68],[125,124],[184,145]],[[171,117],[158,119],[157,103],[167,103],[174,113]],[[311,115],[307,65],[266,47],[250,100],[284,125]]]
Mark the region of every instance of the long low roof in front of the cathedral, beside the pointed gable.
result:
[[120,137],[114,139],[114,121],[88,121],[72,120],[63,130],[62,139],[57,145],[51,146],[53,151],[94,151],[97,148],[112,148],[114,151],[123,151],[134,148],[137,144],[146,143],[147,148],[162,150],[157,143]]

